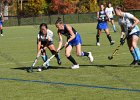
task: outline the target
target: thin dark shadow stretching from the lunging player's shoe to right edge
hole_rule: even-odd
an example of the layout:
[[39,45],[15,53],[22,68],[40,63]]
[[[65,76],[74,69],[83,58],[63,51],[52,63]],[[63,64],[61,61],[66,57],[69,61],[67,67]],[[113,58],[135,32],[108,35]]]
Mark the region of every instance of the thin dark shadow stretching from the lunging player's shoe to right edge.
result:
[[139,67],[140,68],[140,65],[80,65],[80,66],[95,66],[95,67],[100,67],[100,68],[104,68],[104,67]]

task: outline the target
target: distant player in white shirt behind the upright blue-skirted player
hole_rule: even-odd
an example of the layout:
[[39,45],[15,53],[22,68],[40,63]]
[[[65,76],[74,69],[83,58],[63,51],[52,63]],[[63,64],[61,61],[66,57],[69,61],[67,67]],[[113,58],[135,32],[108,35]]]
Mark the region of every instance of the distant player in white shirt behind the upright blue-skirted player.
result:
[[115,15],[115,12],[114,12],[114,8],[112,7],[110,2],[107,4],[105,12],[108,14],[108,17],[110,19],[109,21],[111,22],[111,24],[113,26],[114,32],[116,32],[116,26],[115,26],[114,19],[113,19],[113,16]]

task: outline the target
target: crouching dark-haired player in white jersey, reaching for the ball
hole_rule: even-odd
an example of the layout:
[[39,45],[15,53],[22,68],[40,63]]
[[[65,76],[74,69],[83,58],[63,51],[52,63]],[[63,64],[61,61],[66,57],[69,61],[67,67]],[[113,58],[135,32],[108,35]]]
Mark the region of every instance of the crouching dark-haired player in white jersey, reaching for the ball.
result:
[[[40,31],[37,37],[37,51],[39,52],[41,49],[43,49],[42,59],[44,62],[47,61],[46,48],[48,48],[52,54],[56,54],[55,57],[57,59],[57,63],[61,65],[60,57],[58,53],[56,52],[54,44],[53,44],[53,32],[48,29],[47,24],[42,23],[40,24]],[[49,64],[46,65],[46,68],[48,66]]]

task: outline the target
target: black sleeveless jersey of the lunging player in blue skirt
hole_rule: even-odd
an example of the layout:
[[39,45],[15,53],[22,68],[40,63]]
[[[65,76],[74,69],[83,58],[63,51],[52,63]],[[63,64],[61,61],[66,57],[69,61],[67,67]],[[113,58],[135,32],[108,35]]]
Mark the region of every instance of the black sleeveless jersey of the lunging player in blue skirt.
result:
[[[72,31],[73,31],[74,34],[77,34],[77,31],[76,31],[73,27],[72,27]],[[64,25],[64,30],[58,30],[58,32],[59,32],[60,34],[64,35],[64,36],[66,36],[67,39],[69,39],[70,36],[71,36],[71,34],[69,33],[69,31],[68,31],[66,25]]]

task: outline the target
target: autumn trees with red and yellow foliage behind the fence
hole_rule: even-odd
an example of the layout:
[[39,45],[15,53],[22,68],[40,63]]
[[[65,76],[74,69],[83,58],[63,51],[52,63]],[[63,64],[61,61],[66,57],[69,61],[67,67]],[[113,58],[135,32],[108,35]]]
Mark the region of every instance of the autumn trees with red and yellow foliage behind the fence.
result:
[[99,10],[100,3],[111,2],[113,6],[127,5],[132,0],[1,0],[8,3],[11,15],[32,16],[42,14],[92,13]]

